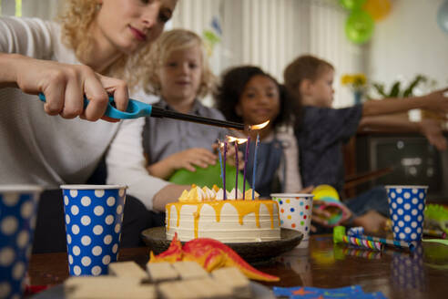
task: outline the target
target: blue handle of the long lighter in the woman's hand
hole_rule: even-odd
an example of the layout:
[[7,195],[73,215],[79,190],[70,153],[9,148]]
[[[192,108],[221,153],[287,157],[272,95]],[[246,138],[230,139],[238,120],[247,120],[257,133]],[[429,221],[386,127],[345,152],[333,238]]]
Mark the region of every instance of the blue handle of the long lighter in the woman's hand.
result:
[[[46,96],[43,93],[39,93],[39,99],[46,102]],[[89,100],[84,96],[84,108],[87,107]],[[105,116],[112,119],[137,119],[140,117],[150,116],[152,112],[152,106],[136,99],[129,98],[127,103],[126,112],[120,111],[115,108],[112,104],[114,103],[114,97],[109,96],[109,103],[107,104],[107,109]]]

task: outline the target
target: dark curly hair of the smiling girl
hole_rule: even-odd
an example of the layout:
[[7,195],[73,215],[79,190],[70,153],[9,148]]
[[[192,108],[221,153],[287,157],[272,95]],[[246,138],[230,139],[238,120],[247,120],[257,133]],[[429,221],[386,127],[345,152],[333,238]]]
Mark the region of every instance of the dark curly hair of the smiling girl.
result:
[[226,119],[242,122],[243,119],[237,114],[236,107],[249,80],[256,76],[269,77],[279,88],[280,112],[276,119],[271,119],[272,127],[289,125],[292,115],[296,111],[294,101],[290,100],[286,88],[280,85],[270,74],[261,70],[260,67],[233,67],[226,71],[222,75],[221,83],[215,93],[217,108]]

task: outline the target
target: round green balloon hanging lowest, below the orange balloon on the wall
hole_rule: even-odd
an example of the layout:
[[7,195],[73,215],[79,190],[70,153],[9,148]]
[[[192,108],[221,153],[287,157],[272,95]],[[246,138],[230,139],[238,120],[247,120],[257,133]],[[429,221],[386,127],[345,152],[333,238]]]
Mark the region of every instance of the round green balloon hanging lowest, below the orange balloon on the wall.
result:
[[374,26],[371,15],[362,10],[354,10],[345,23],[345,35],[353,43],[363,44],[372,37]]

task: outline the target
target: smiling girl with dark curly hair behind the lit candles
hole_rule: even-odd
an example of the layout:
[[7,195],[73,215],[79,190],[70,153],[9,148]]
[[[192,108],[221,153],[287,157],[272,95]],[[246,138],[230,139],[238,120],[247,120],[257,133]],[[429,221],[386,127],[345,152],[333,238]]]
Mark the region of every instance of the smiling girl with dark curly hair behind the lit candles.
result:
[[[287,100],[285,89],[277,80],[259,67],[230,68],[222,76],[215,98],[217,107],[230,121],[255,125],[270,120],[266,128],[240,135],[250,136],[246,176],[251,183],[255,140],[260,133],[256,185],[252,186],[260,197],[268,198],[272,192],[300,191],[299,149],[292,132],[282,128],[291,123],[293,102]],[[244,149],[246,144],[239,148],[245,154]]]

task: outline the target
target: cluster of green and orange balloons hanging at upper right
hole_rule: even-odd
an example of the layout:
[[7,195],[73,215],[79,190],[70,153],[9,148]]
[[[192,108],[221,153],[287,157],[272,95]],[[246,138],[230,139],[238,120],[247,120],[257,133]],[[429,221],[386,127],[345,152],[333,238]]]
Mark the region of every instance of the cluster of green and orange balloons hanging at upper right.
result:
[[345,23],[345,35],[355,44],[368,42],[375,21],[382,20],[391,11],[390,0],[339,0],[350,11]]

